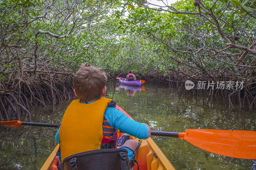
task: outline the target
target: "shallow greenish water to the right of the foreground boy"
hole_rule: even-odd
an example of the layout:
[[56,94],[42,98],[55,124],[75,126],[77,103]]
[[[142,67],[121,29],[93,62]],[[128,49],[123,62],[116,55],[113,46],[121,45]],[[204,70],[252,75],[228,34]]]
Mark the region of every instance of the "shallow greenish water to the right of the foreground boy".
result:
[[[239,111],[239,107],[235,106],[230,111],[226,99],[216,100],[210,107],[207,104],[208,96],[179,97],[175,89],[148,84],[146,86],[145,92],[137,91],[132,98],[125,95],[124,88],[110,98],[116,100],[136,121],[149,124],[152,130],[256,130],[255,110]],[[109,89],[111,92],[111,88]],[[256,169],[255,160],[214,154],[176,138],[152,139],[176,169]]]

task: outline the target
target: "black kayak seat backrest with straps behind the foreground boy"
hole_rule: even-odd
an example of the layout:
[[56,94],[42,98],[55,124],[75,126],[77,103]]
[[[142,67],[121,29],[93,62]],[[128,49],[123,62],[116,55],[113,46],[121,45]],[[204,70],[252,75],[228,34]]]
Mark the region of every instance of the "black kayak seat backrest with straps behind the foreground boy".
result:
[[97,149],[71,155],[59,170],[130,170],[126,149]]

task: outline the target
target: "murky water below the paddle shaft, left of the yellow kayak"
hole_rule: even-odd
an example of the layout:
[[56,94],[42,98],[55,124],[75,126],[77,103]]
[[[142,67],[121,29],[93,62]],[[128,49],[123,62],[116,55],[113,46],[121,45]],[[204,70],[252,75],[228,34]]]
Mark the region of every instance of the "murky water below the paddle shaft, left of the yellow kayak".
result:
[[38,169],[38,162],[43,163],[55,146],[52,137],[56,131],[51,128],[23,126],[0,130],[0,169]]

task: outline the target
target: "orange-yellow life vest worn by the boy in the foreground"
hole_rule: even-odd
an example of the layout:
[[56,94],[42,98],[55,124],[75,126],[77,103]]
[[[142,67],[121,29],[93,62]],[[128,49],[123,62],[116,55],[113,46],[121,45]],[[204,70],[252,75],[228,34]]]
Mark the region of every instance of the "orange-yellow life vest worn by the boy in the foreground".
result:
[[70,103],[59,131],[61,161],[76,153],[100,149],[103,116],[111,102],[111,99],[101,97],[89,104],[80,103],[80,100]]

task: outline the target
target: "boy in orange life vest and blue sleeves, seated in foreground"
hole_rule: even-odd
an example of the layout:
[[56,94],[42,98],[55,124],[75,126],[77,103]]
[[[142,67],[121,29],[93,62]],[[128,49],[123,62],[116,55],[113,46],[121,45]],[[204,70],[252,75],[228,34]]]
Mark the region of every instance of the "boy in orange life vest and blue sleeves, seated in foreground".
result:
[[[82,64],[73,83],[79,99],[66,109],[55,136],[60,143],[61,161],[76,153],[101,149],[104,144],[126,149],[131,159],[138,144],[129,135],[146,139],[151,135],[149,126],[129,119],[115,108],[114,100],[104,98],[107,77],[100,68]],[[117,129],[126,133],[118,143]]]

